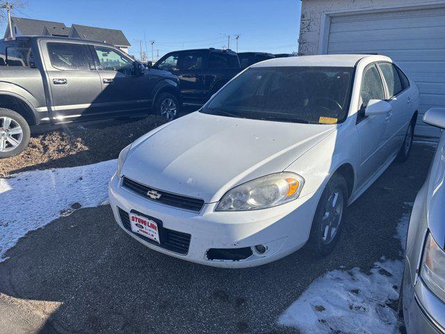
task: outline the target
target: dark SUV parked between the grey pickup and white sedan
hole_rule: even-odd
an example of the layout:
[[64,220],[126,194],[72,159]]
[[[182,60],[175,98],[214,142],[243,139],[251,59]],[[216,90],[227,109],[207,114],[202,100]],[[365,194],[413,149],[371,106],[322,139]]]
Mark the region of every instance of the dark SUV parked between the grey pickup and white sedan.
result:
[[213,48],[173,51],[153,67],[179,77],[184,104],[204,104],[241,71],[234,51]]

